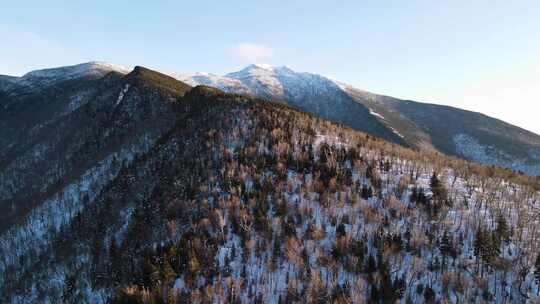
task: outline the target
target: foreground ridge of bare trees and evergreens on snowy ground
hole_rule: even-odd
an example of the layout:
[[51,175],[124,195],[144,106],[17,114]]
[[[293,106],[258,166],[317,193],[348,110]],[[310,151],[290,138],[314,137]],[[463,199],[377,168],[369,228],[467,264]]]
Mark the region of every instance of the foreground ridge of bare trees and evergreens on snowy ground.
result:
[[99,191],[33,214],[59,217],[39,250],[2,247],[2,302],[540,299],[538,178],[210,87],[175,98],[174,125],[105,161]]

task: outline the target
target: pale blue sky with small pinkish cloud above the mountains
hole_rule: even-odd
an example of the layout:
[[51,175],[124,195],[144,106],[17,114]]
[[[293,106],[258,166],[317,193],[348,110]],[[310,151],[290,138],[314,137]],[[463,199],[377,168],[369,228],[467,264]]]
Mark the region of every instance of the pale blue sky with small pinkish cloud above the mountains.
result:
[[538,1],[10,2],[0,74],[90,60],[217,74],[269,63],[540,133]]

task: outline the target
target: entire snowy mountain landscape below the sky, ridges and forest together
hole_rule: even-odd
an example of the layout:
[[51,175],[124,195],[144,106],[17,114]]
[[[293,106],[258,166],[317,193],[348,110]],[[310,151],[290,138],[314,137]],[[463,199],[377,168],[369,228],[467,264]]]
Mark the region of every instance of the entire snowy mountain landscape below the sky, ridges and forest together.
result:
[[502,121],[260,65],[0,76],[0,109],[1,303],[540,300],[540,137]]

